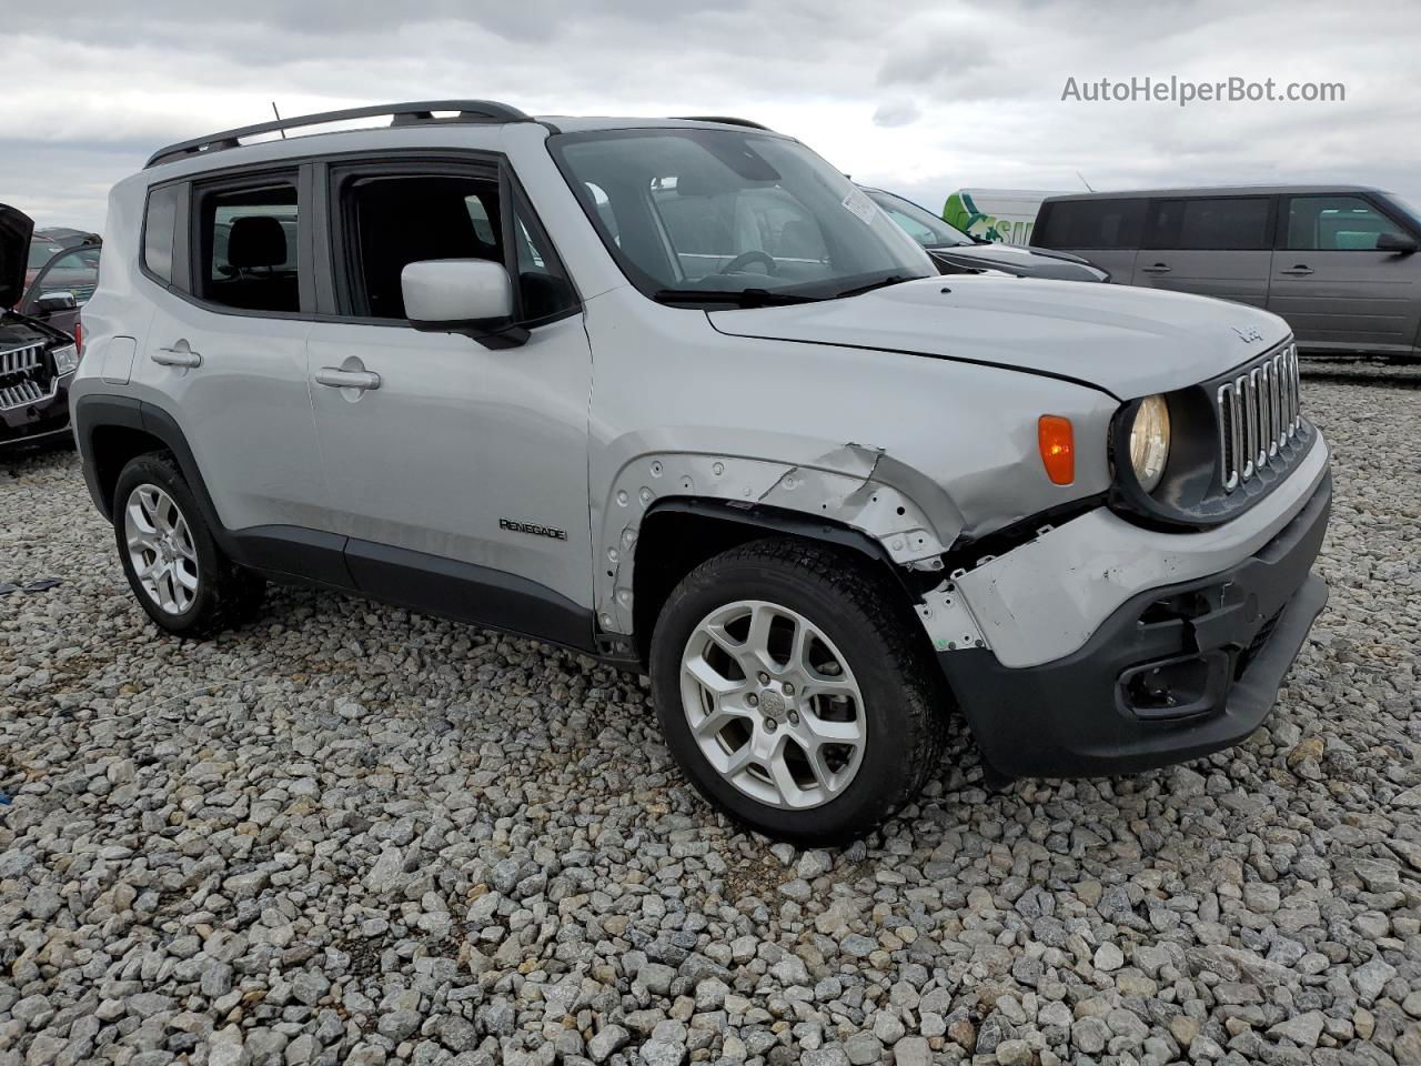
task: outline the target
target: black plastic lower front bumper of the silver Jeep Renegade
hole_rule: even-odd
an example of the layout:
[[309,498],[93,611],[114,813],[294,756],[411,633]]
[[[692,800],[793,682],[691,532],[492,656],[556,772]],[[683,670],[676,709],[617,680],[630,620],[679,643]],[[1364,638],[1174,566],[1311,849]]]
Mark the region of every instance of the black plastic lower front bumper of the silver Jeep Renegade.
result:
[[1010,668],[986,648],[941,652],[986,760],[1019,777],[1133,773],[1246,738],[1327,603],[1310,569],[1330,509],[1324,475],[1255,554],[1134,596],[1052,662]]

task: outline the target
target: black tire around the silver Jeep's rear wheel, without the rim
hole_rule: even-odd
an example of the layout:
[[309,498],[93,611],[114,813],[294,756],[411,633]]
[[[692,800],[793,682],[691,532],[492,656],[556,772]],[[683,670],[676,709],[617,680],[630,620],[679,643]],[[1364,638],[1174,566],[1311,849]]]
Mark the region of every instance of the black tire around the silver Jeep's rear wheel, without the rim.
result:
[[[125,507],[134,489],[155,485],[172,497],[192,537],[198,557],[198,590],[192,603],[180,614],[169,614],[144,588],[129,559],[125,534]],[[169,452],[148,452],[129,459],[118,475],[114,489],[114,536],[118,557],[128,584],[153,623],[179,637],[205,640],[252,618],[261,607],[266,581],[250,570],[229,560],[203,517],[198,500],[188,488],[178,462]]]

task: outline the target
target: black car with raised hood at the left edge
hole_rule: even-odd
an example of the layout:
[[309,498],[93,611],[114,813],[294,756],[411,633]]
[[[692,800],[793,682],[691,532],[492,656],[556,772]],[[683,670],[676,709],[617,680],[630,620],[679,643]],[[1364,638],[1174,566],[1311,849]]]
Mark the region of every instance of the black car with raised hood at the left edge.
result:
[[[68,289],[40,287],[54,260],[81,249],[51,256],[27,290],[33,233],[27,215],[0,203],[0,308],[7,308],[0,310],[0,449],[70,434],[68,385],[80,352],[74,337],[50,320],[72,325],[78,298]],[[97,254],[92,274],[98,276]]]

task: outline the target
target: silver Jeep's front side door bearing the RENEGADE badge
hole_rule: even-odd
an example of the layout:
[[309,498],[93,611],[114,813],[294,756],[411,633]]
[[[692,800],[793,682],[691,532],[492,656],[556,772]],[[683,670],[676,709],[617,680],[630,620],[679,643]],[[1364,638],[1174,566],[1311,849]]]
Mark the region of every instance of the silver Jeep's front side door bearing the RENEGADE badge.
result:
[[[526,209],[503,217],[492,165],[354,165],[325,185],[344,321],[313,325],[311,394],[351,576],[379,598],[588,644],[591,350],[546,237]],[[404,266],[469,257],[517,276],[526,344],[408,324]]]

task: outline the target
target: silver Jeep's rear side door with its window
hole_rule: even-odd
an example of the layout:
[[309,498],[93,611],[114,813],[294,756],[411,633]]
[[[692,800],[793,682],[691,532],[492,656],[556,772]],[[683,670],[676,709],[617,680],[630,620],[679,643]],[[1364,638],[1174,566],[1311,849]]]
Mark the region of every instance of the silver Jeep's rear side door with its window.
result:
[[159,186],[145,215],[155,311],[134,381],[178,421],[222,524],[260,539],[330,527],[306,384],[314,286],[297,237],[310,225],[301,173]]

